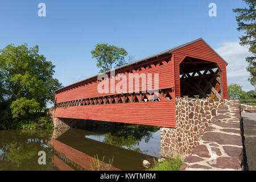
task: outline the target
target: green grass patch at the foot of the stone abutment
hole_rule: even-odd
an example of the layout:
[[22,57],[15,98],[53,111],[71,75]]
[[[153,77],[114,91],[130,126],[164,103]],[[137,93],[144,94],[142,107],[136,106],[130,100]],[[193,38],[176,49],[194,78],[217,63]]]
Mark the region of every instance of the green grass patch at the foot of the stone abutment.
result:
[[180,159],[180,156],[177,156],[174,159],[166,159],[162,163],[159,163],[154,159],[153,166],[147,169],[147,171],[179,171],[182,164],[183,161]]

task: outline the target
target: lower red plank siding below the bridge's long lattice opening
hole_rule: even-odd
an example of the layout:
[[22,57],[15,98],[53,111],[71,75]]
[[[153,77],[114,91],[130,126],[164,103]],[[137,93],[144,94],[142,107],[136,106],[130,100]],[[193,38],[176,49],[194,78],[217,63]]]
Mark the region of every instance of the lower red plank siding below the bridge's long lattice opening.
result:
[[55,117],[175,127],[175,101],[60,107]]

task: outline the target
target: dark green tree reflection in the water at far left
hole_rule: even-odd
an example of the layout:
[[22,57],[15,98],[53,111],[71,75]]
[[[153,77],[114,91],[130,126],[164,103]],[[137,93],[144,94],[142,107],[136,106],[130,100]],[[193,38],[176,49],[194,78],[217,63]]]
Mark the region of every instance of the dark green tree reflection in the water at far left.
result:
[[51,165],[38,164],[38,152],[46,152],[46,161],[51,163],[52,148],[47,146],[52,130],[0,131],[1,170],[52,170]]

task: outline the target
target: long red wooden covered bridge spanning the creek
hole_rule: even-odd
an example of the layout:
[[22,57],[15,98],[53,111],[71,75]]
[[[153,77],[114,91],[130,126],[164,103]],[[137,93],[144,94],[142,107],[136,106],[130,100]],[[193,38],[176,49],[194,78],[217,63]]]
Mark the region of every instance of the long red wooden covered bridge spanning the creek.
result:
[[[55,117],[175,127],[176,97],[228,98],[226,65],[200,38],[123,65],[115,69],[115,75],[106,72],[109,79],[94,76],[56,90]],[[139,84],[137,80],[133,85],[137,89],[116,92],[115,87],[123,81],[118,73],[127,78],[129,73],[138,73]],[[148,89],[154,76],[141,84],[142,75],[148,73],[158,74],[158,90]],[[98,92],[103,81],[110,83],[108,93]]]

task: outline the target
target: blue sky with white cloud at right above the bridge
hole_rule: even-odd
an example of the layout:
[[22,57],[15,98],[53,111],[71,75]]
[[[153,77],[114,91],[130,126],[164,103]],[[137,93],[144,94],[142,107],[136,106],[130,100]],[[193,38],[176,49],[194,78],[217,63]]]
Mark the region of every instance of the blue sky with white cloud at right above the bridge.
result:
[[[41,2],[46,17],[38,16]],[[212,2],[217,17],[208,15]],[[238,44],[242,32],[232,11],[244,6],[242,0],[0,0],[0,49],[11,43],[38,45],[66,86],[97,75],[90,53],[97,43],[123,47],[137,60],[201,37],[229,63],[228,84],[251,90],[245,70],[250,54]]]

